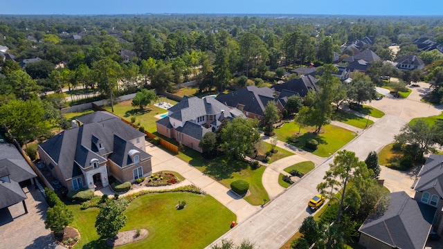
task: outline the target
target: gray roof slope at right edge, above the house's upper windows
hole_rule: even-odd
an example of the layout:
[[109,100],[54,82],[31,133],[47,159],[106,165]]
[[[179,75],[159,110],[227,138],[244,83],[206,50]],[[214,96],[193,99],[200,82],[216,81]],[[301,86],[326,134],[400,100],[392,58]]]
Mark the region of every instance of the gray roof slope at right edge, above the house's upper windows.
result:
[[443,155],[428,156],[418,177],[414,186],[415,191],[424,191],[433,187],[440,194],[440,198],[443,198]]

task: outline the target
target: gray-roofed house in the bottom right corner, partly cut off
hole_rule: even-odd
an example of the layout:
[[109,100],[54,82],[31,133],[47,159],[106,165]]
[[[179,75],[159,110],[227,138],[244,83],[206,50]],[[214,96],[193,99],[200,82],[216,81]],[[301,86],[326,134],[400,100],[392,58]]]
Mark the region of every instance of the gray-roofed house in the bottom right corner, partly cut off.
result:
[[443,155],[426,159],[413,185],[414,198],[390,194],[386,212],[370,217],[359,231],[366,248],[424,248],[431,229],[443,234]]

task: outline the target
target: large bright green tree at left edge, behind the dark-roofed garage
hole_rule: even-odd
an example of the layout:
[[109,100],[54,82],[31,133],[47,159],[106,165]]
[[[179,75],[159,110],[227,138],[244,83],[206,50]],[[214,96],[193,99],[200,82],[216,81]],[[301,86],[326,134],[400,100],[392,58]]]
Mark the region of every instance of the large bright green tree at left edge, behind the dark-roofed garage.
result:
[[0,124],[21,144],[48,131],[44,107],[39,100],[11,100],[0,106]]

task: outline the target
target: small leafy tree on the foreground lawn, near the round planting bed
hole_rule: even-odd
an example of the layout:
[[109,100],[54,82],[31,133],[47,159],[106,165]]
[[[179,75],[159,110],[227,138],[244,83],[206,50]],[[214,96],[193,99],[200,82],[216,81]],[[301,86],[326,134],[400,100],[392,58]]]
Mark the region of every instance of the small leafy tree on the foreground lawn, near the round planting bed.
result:
[[126,225],[127,216],[123,212],[125,205],[110,199],[106,202],[96,219],[96,229],[98,235],[102,238],[114,238],[118,234],[118,230]]

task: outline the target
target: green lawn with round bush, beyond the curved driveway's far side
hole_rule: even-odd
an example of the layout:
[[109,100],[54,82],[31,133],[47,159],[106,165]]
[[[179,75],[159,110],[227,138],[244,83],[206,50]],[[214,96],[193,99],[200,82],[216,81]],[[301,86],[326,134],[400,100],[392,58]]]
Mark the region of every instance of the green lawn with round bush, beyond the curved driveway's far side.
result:
[[[327,124],[322,127],[319,134],[314,134],[309,131],[314,131],[314,128],[306,127],[301,129],[300,135],[297,137],[297,142],[291,141],[291,136],[297,135],[299,130],[298,124],[295,122],[289,122],[283,125],[282,128],[274,129],[275,135],[278,136],[278,140],[287,142],[291,145],[304,149],[305,151],[312,152],[317,156],[327,157],[334,154],[335,151],[343,147],[350,142],[357,134],[343,129],[341,127],[336,127],[333,124]],[[307,140],[314,138],[318,141],[318,149],[312,151],[305,147]]]

